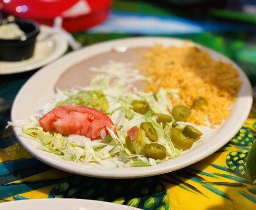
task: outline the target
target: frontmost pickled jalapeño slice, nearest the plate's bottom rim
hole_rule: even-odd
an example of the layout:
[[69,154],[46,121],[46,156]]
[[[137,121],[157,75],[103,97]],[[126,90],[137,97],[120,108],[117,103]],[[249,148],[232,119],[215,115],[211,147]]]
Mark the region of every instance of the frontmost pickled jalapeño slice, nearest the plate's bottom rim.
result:
[[143,147],[146,158],[162,160],[166,157],[166,149],[162,144],[151,143]]

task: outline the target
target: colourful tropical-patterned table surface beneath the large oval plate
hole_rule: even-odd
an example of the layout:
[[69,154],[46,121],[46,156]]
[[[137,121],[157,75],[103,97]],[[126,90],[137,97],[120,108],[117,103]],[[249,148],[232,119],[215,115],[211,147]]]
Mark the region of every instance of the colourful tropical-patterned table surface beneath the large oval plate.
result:
[[[116,1],[104,24],[76,33],[74,37],[83,45],[139,35],[191,39],[236,61],[254,85],[255,19],[255,16],[227,15],[222,10],[213,9],[204,11],[201,16],[193,13],[192,18],[183,10],[168,5]],[[5,129],[17,91],[34,72],[0,76],[2,202],[68,197],[115,202],[142,209],[255,209],[256,187],[247,179],[244,166],[256,134],[255,114],[251,113],[240,131],[223,148],[185,169],[131,180],[83,177],[36,160],[17,143],[12,129]]]

